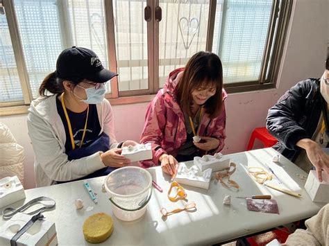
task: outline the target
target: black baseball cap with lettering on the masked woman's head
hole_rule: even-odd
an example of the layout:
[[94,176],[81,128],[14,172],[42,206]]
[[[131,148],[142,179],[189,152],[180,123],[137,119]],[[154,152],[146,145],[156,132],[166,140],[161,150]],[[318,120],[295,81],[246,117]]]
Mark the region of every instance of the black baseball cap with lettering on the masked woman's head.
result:
[[94,51],[76,46],[60,53],[55,73],[58,78],[65,80],[81,78],[96,83],[107,82],[117,76],[117,73],[103,67]]

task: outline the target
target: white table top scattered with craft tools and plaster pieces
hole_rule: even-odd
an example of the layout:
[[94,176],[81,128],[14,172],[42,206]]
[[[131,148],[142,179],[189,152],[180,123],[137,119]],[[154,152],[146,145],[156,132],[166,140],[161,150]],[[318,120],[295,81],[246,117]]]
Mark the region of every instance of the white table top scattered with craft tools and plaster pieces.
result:
[[[145,215],[133,222],[123,222],[112,213],[108,194],[103,193],[101,185],[105,177],[90,179],[90,185],[97,193],[98,204],[94,204],[83,181],[69,182],[55,186],[33,188],[26,190],[26,200],[12,204],[18,207],[24,202],[38,196],[48,196],[56,201],[56,209],[44,212],[47,220],[56,222],[59,245],[89,245],[83,238],[82,226],[88,216],[105,212],[114,220],[112,236],[103,245],[210,245],[234,238],[255,234],[285,225],[304,218],[314,216],[325,204],[310,200],[304,187],[305,180],[301,175],[307,175],[285,157],[280,157],[280,164],[274,164],[271,159],[278,152],[272,148],[240,152],[227,155],[237,164],[237,170],[231,176],[240,186],[239,191],[224,187],[212,179],[208,190],[185,186],[188,202],[196,202],[197,210],[192,213],[183,211],[162,218],[160,208],[167,210],[183,207],[185,201],[170,202],[167,198],[170,177],[162,174],[161,168],[153,169],[155,182],[163,188],[163,193],[153,188],[153,194]],[[187,162],[192,164],[192,161]],[[286,195],[267,186],[256,183],[248,175],[248,166],[267,164],[282,180],[283,188],[297,191],[301,198]],[[155,175],[154,175],[155,174]],[[237,196],[270,194],[278,202],[280,214],[248,211],[246,200]],[[225,195],[232,196],[231,205],[223,204]],[[85,207],[76,210],[74,200],[82,199]],[[0,210],[2,213],[2,210]],[[0,225],[5,221],[1,217]]]

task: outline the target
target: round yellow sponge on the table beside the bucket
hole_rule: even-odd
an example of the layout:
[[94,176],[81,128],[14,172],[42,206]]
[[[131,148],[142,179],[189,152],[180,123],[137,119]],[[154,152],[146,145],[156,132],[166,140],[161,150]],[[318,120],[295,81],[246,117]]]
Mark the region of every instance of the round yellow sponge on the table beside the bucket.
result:
[[83,223],[83,236],[89,243],[102,243],[113,231],[112,217],[106,213],[95,213]]

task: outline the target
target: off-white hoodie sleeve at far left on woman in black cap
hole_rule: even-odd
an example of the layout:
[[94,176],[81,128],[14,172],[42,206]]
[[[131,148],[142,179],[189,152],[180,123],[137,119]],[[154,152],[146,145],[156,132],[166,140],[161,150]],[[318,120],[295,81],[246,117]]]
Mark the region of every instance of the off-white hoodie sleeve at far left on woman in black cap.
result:
[[[69,181],[105,167],[99,152],[69,161],[65,148],[60,146],[60,141],[54,134],[51,125],[31,112],[28,114],[28,134],[35,152],[35,166],[42,168],[49,179]],[[38,182],[38,179],[42,179],[42,177],[35,178],[37,184],[49,184],[49,182]]]

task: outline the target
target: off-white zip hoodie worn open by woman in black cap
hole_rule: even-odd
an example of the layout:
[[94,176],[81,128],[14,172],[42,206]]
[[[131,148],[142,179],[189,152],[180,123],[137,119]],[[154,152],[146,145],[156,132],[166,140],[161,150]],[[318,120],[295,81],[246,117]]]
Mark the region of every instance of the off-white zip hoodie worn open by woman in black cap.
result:
[[[104,168],[99,152],[69,161],[65,154],[65,128],[57,112],[56,96],[37,98],[28,109],[28,135],[35,153],[35,181],[37,187],[56,181],[74,180]],[[110,137],[110,149],[117,147],[112,107],[108,100],[96,105],[101,134]]]

